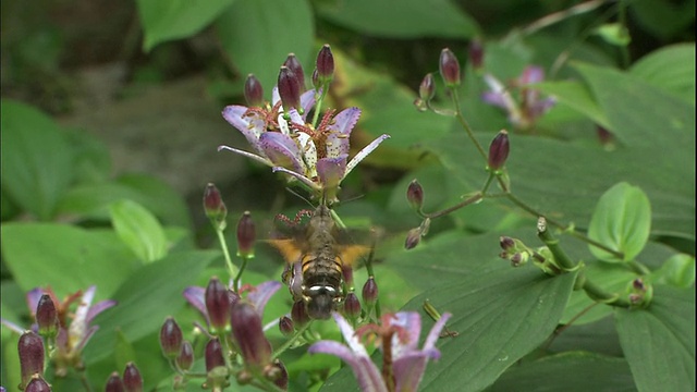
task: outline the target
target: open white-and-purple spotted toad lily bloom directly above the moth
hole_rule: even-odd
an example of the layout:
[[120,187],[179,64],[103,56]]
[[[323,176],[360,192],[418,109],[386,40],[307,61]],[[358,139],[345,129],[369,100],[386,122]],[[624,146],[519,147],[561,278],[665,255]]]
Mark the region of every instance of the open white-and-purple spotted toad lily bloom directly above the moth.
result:
[[220,146],[218,150],[267,164],[273,171],[291,175],[317,195],[334,200],[341,181],[390,136],[381,135],[348,161],[348,140],[360,110],[348,108],[335,115],[334,110],[329,110],[315,127],[306,123],[305,118],[320,94],[311,89],[301,96],[303,114],[294,108],[283,112],[278,87],[273,88],[271,103],[265,108],[227,107],[223,118],[245,136],[254,152],[229,146]]

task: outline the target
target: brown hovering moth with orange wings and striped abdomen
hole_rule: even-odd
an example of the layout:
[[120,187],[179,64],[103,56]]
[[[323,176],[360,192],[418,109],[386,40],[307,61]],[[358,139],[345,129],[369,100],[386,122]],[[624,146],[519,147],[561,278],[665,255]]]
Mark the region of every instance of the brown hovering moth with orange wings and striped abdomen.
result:
[[291,238],[269,240],[269,243],[289,264],[283,282],[289,285],[293,298],[305,304],[310,318],[328,319],[346,295],[345,274],[370,249],[343,244],[341,240],[345,233],[337,226],[325,204],[310,212],[306,226],[297,229]]

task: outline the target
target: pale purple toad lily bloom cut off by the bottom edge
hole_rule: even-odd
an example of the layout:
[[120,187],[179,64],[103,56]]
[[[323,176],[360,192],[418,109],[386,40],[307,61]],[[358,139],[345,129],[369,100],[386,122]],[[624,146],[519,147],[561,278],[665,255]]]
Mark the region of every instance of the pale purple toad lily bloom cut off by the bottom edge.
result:
[[[347,346],[334,341],[321,341],[313,344],[308,352],[331,354],[343,359],[351,366],[364,392],[406,392],[418,389],[428,359],[440,357],[436,341],[451,315],[444,314],[436,322],[421,350],[418,348],[421,318],[415,311],[387,315],[382,318],[382,326],[368,324],[357,331],[341,315],[334,313],[333,316]],[[360,344],[360,336],[366,335],[378,338],[383,355],[382,371]]]

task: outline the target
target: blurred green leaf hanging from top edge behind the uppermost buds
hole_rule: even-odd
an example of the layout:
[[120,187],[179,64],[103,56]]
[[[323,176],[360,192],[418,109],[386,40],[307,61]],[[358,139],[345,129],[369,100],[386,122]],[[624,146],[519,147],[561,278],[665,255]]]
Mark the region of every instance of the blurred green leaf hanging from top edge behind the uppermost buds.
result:
[[289,52],[313,70],[315,22],[307,0],[236,0],[217,21],[222,50],[239,75],[249,73],[261,82],[267,98]]

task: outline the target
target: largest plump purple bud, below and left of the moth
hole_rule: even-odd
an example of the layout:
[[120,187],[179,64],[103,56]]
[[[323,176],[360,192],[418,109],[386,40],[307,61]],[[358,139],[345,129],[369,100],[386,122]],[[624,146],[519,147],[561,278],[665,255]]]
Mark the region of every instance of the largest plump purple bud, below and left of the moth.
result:
[[261,369],[271,363],[271,343],[264,335],[261,316],[254,305],[246,301],[237,302],[232,307],[230,323],[245,367]]

